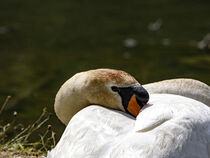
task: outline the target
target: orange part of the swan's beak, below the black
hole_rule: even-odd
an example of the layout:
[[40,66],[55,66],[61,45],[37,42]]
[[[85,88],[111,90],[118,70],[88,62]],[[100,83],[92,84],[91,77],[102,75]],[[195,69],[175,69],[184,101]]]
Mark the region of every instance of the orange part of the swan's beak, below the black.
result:
[[[146,105],[145,103],[142,102],[143,105]],[[127,107],[128,111],[135,117],[138,116],[140,110],[141,110],[141,106],[137,103],[136,101],[136,95],[134,94],[129,103],[128,103],[128,107]]]

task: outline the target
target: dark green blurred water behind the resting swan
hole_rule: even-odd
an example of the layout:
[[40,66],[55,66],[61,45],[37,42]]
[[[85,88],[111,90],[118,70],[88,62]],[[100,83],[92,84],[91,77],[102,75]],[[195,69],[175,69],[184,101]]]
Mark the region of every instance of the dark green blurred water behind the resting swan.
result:
[[[113,68],[142,83],[194,78],[210,84],[209,0],[0,1],[0,104],[23,124],[53,112],[77,72]],[[53,115],[59,139],[64,125]]]

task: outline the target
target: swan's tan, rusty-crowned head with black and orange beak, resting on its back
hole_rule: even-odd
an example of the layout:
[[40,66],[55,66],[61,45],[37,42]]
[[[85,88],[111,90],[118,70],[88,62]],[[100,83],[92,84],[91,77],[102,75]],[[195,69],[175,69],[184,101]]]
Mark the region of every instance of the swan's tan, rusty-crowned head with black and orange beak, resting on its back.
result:
[[68,124],[79,110],[91,104],[125,111],[136,117],[149,94],[130,74],[112,69],[80,72],[67,80],[55,98],[58,118]]

